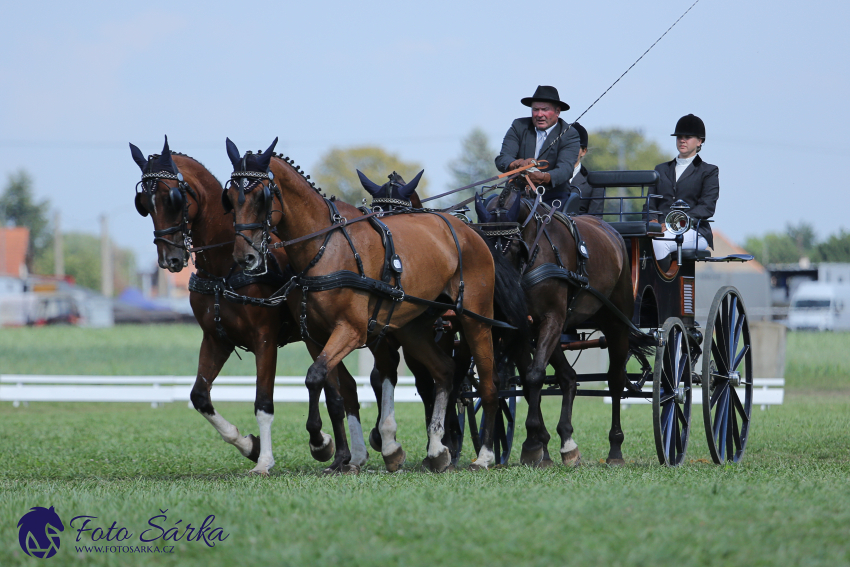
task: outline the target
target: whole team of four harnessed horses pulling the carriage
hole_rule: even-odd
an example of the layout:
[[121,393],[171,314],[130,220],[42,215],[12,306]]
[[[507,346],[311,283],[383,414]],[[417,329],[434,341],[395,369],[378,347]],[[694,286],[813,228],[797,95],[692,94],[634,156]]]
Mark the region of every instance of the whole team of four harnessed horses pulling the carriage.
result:
[[[374,199],[372,208],[358,209],[325,197],[274,152],[276,142],[264,152],[241,154],[228,139],[233,172],[224,187],[198,161],[171,152],[167,138],[162,152],[147,159],[130,144],[142,171],[136,209],[153,220],[159,266],[178,272],[194,254],[190,301],[203,341],[191,401],[225,441],[256,462],[251,472],[268,474],[274,465],[277,348],[299,340],[314,359],[305,381],[309,448],[316,460],[332,461],[327,473],[359,472],[368,458],[367,438],[388,471],[405,462],[394,417],[399,349],[425,404],[423,465],[429,470],[457,463],[462,432],[454,402],[468,376],[484,411],[480,450],[470,468],[497,462],[502,361],[516,367],[529,405],[521,462],[553,462],[540,410],[551,364],[564,393],[557,426],[561,461],[575,466],[581,460],[571,423],[576,373],[558,347],[565,328],[599,313],[604,316],[594,321],[608,344],[615,401],[608,462],[624,463],[619,396],[627,387],[625,364],[630,355],[644,357],[652,344],[630,323],[634,294],[620,234],[598,218],[563,215],[539,198],[527,199],[514,182],[487,203],[477,199],[480,225],[422,208],[415,192],[419,176],[405,183],[394,173],[379,186],[358,172]],[[513,178],[525,179],[521,173]],[[371,384],[379,400],[368,436],[354,379],[342,362],[364,346],[375,358]],[[256,357],[259,437],[241,435],[210,398],[236,347]],[[322,431],[322,392],[332,436]]]

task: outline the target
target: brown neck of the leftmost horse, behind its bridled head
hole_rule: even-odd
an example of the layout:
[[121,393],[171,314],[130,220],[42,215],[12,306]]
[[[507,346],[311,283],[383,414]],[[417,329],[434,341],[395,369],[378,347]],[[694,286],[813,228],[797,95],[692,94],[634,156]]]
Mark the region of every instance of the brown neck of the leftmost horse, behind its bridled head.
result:
[[[173,159],[197,195],[197,202],[191,195],[187,196],[189,202],[197,206],[192,218],[192,245],[199,248],[232,242],[233,218],[225,214],[221,204],[221,184],[197,161],[184,156],[174,156]],[[213,275],[223,276],[233,265],[233,247],[216,246],[204,250],[195,255],[195,263]]]

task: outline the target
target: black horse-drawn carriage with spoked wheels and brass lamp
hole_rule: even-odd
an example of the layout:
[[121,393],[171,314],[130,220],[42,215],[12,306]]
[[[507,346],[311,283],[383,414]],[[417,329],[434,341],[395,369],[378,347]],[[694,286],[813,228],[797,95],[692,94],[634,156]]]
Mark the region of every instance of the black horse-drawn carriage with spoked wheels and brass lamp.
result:
[[[683,462],[691,432],[694,393],[702,398],[702,414],[712,460],[717,464],[738,462],[744,454],[753,405],[752,351],[744,301],[737,289],[718,290],[708,318],[702,326],[695,318],[695,277],[697,262],[744,262],[752,256],[734,254],[712,257],[709,251],[682,247],[669,266],[655,258],[652,241],[662,236],[658,222],[650,221],[650,199],[658,183],[655,171],[591,172],[588,182],[594,189],[597,213],[625,240],[629,251],[635,310],[631,323],[655,338],[654,360],[637,355],[627,366],[627,388],[622,398],[651,400],[653,429],[658,460],[676,466]],[[588,199],[585,199],[588,200]],[[687,205],[674,205],[667,216],[667,230],[674,234],[690,226]],[[578,209],[570,202],[566,213]],[[656,213],[657,214],[657,213]],[[654,216],[654,214],[652,215]],[[593,320],[582,328],[564,329],[561,348],[581,351],[606,348],[604,337],[592,339]],[[498,464],[506,464],[513,444],[516,398],[523,395],[520,379],[503,361],[499,372],[500,415],[496,421],[495,453]],[[607,374],[579,374],[578,396],[607,397],[604,389],[587,385],[605,382]],[[651,384],[652,390],[644,389]],[[543,395],[561,395],[554,376],[547,376]],[[473,369],[458,399],[458,428],[462,442],[465,417],[476,452],[479,450],[476,414],[479,403]],[[459,446],[459,444],[457,445]]]

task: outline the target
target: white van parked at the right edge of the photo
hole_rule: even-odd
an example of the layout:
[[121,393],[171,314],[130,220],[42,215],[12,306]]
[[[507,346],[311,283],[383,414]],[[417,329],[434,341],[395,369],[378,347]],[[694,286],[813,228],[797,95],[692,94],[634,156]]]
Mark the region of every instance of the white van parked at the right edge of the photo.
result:
[[788,326],[796,331],[850,330],[850,285],[801,284],[791,297]]

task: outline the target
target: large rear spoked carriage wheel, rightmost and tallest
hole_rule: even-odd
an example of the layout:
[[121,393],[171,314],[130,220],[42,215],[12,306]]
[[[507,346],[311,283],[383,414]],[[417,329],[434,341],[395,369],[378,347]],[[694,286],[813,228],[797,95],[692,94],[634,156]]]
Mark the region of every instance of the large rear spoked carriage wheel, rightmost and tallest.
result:
[[708,312],[702,354],[702,414],[718,465],[744,456],[753,411],[750,328],[741,294],[721,288]]

